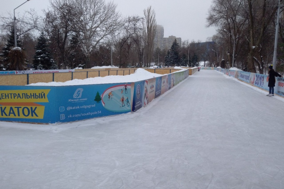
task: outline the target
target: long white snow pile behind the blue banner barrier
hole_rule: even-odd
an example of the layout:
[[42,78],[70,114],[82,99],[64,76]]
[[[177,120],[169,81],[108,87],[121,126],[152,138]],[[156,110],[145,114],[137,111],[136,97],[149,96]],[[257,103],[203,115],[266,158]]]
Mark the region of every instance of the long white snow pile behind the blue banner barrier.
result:
[[154,74],[145,69],[138,68],[134,74],[130,75],[109,75],[105,77],[94,77],[87,79],[73,79],[66,82],[33,83],[32,86],[66,86],[66,85],[86,85],[86,84],[105,84],[105,83],[129,83],[136,82],[153,77],[159,77],[161,74]]

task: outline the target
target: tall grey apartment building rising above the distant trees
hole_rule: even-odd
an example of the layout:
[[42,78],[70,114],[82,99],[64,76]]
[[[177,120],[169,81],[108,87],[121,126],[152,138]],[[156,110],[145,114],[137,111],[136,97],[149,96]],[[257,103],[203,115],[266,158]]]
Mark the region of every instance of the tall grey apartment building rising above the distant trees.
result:
[[160,49],[171,49],[171,45],[176,39],[177,43],[181,46],[181,38],[176,36],[169,36],[164,38],[164,27],[162,25],[157,25],[156,34],[154,38],[154,50],[159,47]]

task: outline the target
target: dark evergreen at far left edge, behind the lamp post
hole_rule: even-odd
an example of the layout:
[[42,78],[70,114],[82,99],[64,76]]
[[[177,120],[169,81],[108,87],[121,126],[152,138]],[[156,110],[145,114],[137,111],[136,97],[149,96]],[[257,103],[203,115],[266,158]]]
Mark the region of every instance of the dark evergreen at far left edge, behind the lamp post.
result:
[[[18,36],[17,36],[17,46],[18,47],[22,46],[22,43],[18,39]],[[12,26],[10,33],[8,33],[8,39],[7,39],[6,46],[2,48],[2,53],[0,54],[0,56],[2,56],[1,62],[3,64],[3,67],[6,70],[11,70],[11,68],[10,68],[11,63],[9,61],[8,56],[9,56],[9,53],[10,53],[10,51],[13,47],[15,47],[15,39],[14,39],[14,27]]]

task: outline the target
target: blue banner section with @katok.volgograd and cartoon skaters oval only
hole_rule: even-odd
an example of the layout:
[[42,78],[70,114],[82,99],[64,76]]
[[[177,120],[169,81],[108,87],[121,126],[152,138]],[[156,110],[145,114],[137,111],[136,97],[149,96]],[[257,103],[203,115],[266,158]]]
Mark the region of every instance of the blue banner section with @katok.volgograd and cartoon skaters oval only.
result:
[[56,115],[69,122],[131,111],[131,84],[62,86],[57,91]]

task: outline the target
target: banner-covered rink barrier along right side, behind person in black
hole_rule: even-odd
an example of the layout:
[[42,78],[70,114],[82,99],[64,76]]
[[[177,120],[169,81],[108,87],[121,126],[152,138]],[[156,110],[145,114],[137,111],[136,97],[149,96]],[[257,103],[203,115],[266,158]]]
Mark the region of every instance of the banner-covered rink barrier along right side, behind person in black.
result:
[[[268,75],[223,68],[217,68],[216,70],[267,92],[269,91]],[[284,97],[284,78],[276,77],[274,94]]]

